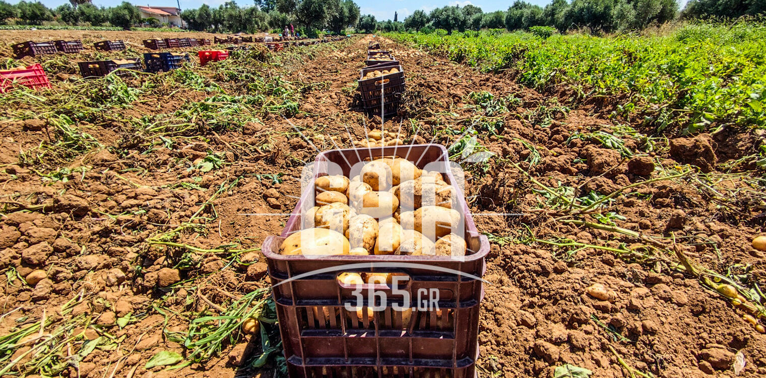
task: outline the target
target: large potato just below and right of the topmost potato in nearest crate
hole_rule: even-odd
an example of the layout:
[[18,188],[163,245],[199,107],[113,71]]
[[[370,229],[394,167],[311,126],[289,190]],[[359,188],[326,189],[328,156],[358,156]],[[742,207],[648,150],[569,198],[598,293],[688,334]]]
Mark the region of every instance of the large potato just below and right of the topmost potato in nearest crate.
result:
[[422,206],[438,205],[452,208],[456,201],[455,191],[447,182],[434,179],[431,176],[421,176],[414,180],[404,181],[394,191],[399,204],[404,211],[419,209]]

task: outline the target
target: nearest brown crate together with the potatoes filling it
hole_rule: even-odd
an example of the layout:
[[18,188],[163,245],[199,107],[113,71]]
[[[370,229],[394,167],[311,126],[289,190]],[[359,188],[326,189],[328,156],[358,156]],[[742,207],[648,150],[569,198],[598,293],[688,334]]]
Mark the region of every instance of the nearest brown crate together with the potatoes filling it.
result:
[[[304,177],[284,231],[263,248],[291,374],[473,376],[489,243],[444,146],[330,150]],[[437,306],[422,307],[423,293]]]

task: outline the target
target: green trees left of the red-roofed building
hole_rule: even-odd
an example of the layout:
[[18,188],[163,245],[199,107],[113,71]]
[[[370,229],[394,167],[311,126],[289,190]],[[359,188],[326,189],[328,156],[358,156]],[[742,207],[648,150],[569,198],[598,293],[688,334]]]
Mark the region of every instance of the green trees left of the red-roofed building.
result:
[[[65,4],[51,9],[41,2],[21,1],[12,5],[0,1],[0,25],[8,23],[10,20],[16,20],[21,25],[42,25],[44,21],[58,21],[67,25],[103,26],[108,24],[120,28],[130,28],[141,21],[141,14],[139,8],[129,2],[123,2],[110,8],[86,3],[77,5],[77,8]],[[157,21],[154,18],[152,20]],[[159,26],[159,21],[149,23]]]

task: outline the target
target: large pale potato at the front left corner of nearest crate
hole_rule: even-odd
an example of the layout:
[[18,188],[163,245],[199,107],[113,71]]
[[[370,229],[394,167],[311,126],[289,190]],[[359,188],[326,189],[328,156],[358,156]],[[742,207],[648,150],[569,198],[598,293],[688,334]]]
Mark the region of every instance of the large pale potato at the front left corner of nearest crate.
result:
[[[303,244],[306,242],[306,244]],[[280,255],[348,255],[349,240],[327,228],[308,228],[288,236]]]

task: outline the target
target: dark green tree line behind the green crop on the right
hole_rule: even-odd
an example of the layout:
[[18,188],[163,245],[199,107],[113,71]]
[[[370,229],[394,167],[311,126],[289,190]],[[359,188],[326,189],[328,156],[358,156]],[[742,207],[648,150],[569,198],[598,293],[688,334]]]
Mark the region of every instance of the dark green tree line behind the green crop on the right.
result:
[[[359,17],[357,31],[452,31],[555,28],[564,33],[588,28],[591,33],[630,31],[660,25],[676,18],[737,18],[766,12],[764,0],[690,0],[683,10],[677,0],[553,0],[541,7],[516,0],[507,11],[485,13],[476,5],[445,6],[429,13],[417,10],[397,20],[377,21]],[[551,29],[553,30],[553,29]]]

